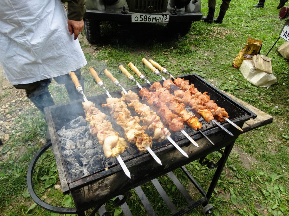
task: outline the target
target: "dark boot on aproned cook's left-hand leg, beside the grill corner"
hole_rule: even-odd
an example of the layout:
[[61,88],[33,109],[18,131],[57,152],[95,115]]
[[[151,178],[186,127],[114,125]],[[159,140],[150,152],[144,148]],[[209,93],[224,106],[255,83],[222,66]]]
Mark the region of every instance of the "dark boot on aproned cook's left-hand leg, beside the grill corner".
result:
[[42,90],[42,92],[39,94],[26,94],[26,96],[43,114],[44,107],[55,105],[48,87],[47,89]]

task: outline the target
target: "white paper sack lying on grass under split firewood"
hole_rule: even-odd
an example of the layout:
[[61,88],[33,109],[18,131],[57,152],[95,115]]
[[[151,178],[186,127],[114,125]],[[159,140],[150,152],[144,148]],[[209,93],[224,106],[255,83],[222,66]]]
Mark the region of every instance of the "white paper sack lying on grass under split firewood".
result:
[[277,78],[273,74],[256,71],[253,66],[253,60],[243,60],[240,71],[255,86],[268,87],[277,82]]

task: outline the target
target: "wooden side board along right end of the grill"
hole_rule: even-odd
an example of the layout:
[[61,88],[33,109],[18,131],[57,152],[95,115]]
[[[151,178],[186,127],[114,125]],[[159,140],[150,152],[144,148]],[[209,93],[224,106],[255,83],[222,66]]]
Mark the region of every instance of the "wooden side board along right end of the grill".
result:
[[251,110],[257,114],[257,117],[255,119],[251,118],[250,120],[248,120],[244,123],[244,125],[242,127],[243,133],[247,132],[249,130],[253,130],[255,128],[258,128],[260,126],[270,124],[273,121],[273,116],[261,111],[260,109],[257,109],[256,107],[253,107],[252,105],[236,98],[235,96],[233,96],[233,95],[231,95],[231,94],[229,94],[223,90],[222,90],[222,92],[224,92],[225,94],[227,94],[228,96],[233,98],[238,103],[242,104],[247,109],[249,109],[249,110]]

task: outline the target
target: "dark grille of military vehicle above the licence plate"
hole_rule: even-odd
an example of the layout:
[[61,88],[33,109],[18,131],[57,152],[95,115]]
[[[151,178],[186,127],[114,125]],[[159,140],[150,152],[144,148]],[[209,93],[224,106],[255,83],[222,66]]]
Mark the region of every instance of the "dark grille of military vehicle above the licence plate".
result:
[[166,11],[168,0],[128,0],[129,11],[137,13],[161,13]]

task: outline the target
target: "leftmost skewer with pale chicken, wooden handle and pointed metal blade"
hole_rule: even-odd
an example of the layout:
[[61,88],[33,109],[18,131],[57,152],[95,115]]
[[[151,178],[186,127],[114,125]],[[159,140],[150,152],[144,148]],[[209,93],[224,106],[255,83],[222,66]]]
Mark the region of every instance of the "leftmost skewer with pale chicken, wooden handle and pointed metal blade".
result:
[[104,120],[106,115],[97,109],[94,103],[87,100],[75,73],[71,71],[69,75],[71,76],[77,91],[83,95],[84,102],[82,102],[82,106],[84,108],[86,120],[90,122],[90,126],[92,127],[90,132],[94,136],[97,134],[99,144],[103,145],[105,156],[107,158],[111,156],[116,157],[118,163],[121,165],[121,168],[125,172],[125,175],[131,178],[130,172],[120,156],[120,154],[126,150],[125,147],[128,147],[125,139],[119,137],[119,133],[112,128],[112,124],[108,120]]

